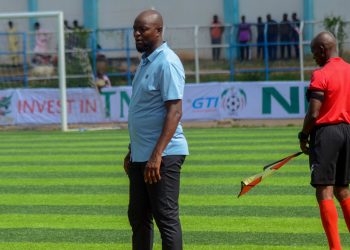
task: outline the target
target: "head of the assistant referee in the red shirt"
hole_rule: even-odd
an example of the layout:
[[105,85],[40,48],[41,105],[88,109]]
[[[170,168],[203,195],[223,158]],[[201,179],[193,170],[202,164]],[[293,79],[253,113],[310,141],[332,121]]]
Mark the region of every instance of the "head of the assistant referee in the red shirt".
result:
[[323,66],[329,58],[338,57],[337,41],[331,32],[319,33],[311,42],[311,51],[316,63]]

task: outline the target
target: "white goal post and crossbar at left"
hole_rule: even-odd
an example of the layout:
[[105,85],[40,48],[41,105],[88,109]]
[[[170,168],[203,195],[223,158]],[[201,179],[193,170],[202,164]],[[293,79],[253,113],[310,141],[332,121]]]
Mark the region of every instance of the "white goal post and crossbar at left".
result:
[[61,129],[68,131],[67,125],[67,91],[66,91],[66,60],[64,45],[64,17],[62,11],[39,11],[22,13],[0,13],[0,19],[11,18],[41,18],[53,17],[57,20],[57,57],[58,79],[61,96]]

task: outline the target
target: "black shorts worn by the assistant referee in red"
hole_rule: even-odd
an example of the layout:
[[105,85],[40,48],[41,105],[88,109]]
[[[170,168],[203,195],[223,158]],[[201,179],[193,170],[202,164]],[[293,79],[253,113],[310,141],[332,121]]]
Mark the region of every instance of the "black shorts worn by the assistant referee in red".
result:
[[310,137],[311,185],[350,183],[350,124],[316,127]]

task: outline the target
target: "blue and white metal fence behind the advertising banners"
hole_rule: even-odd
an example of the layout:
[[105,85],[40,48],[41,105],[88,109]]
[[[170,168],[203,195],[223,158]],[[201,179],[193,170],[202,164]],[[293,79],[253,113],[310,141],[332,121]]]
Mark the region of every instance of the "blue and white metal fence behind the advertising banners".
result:
[[[345,27],[349,33],[349,25]],[[323,22],[301,21],[297,41],[269,41],[266,24],[264,39],[258,41],[257,24],[251,24],[250,29],[251,39],[244,44],[237,41],[237,25],[225,25],[219,44],[211,43],[209,26],[165,27],[164,40],[182,59],[188,82],[283,80],[283,74],[304,81],[305,73],[315,68],[309,45],[311,38],[324,30]],[[46,33],[49,44],[45,55],[35,51],[33,32],[0,33],[0,87],[42,86],[38,82],[49,85],[57,79],[56,34]],[[16,37],[17,50],[10,48],[9,36]],[[96,74],[96,58],[101,54],[108,60],[106,73],[113,85],[131,84],[139,62],[131,28],[67,31],[65,43],[68,86],[87,86]],[[342,44],[345,51],[349,44],[349,40]],[[259,48],[263,53],[258,57]],[[282,48],[285,58],[281,58]],[[213,60],[213,49],[220,51],[219,60]],[[248,51],[244,60],[240,57],[243,49]],[[276,58],[271,58],[271,49]]]

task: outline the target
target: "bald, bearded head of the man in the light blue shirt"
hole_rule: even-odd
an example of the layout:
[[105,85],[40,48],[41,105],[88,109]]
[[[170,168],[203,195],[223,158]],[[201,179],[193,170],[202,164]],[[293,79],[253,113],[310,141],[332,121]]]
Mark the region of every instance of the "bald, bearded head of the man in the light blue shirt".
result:
[[141,12],[134,21],[136,49],[147,55],[163,43],[163,18],[156,10]]

